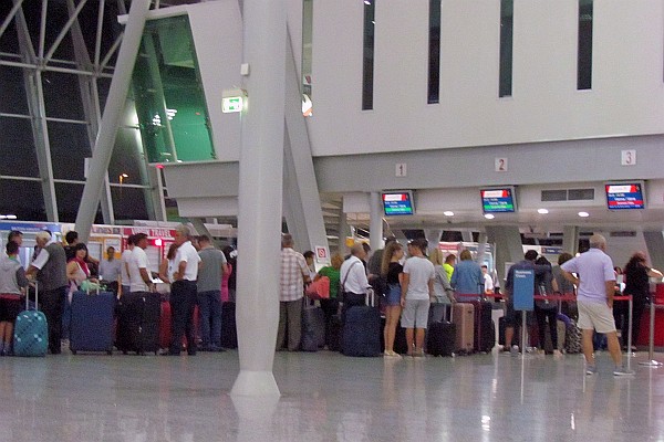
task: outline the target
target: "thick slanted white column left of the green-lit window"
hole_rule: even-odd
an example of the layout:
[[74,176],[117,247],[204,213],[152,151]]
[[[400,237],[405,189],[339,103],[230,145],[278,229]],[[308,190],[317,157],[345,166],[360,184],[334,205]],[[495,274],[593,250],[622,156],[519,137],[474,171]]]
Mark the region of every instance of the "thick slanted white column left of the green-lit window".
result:
[[149,0],[134,0],[129,9],[129,18],[125,27],[122,45],[117,54],[115,74],[111,81],[108,98],[104,107],[100,133],[90,161],[90,170],[83,197],[76,214],[76,231],[82,242],[87,242],[90,229],[100,203],[100,196],[104,185],[104,178],[111,162],[117,127],[122,119],[122,112],[129,90],[132,72],[138,54],[145,19],[149,10]]

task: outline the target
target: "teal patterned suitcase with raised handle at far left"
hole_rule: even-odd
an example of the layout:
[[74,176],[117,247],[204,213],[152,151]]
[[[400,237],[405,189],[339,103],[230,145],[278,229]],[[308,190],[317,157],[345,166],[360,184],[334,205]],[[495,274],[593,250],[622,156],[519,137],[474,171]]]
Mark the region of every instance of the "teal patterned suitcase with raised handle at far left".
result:
[[37,308],[39,290],[34,283],[34,309],[29,307],[29,296],[25,296],[25,309],[19,313],[14,323],[13,354],[14,356],[45,356],[49,348],[49,326],[46,316]]

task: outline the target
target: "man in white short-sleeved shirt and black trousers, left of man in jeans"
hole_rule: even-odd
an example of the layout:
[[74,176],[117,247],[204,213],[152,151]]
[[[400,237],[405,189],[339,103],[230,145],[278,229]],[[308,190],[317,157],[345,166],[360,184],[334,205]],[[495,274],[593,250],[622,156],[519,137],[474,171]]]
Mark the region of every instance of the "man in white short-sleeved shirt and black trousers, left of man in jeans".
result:
[[173,284],[170,284],[170,346],[164,355],[180,354],[183,335],[187,336],[187,354],[196,355],[196,328],[194,327],[194,309],[196,307],[196,280],[200,256],[191,244],[191,231],[180,224],[175,229],[173,241],[177,245]]

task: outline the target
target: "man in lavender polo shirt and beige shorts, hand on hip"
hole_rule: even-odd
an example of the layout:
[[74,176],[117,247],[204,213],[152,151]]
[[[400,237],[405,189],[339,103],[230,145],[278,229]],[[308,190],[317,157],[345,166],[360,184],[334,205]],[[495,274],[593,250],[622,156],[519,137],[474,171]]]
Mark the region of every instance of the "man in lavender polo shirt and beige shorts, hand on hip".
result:
[[[590,250],[563,263],[560,269],[566,280],[577,285],[579,328],[582,330],[581,346],[585,357],[585,373],[594,375],[596,366],[592,348],[592,332],[606,335],[609,352],[615,364],[614,376],[633,375],[622,365],[622,354],[613,319],[613,294],[615,273],[613,262],[604,253],[606,240],[600,234],[590,236]],[[578,276],[572,275],[575,273]]]

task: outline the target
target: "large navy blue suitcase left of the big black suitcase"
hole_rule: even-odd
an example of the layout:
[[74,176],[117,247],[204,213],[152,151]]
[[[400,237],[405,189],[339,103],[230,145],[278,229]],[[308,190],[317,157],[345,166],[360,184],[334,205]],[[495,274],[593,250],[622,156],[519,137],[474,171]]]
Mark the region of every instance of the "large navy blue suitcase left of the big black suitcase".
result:
[[70,323],[70,350],[106,351],[113,354],[113,320],[115,295],[113,292],[72,294]]

